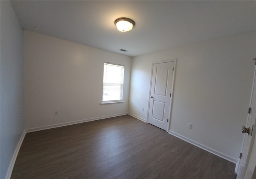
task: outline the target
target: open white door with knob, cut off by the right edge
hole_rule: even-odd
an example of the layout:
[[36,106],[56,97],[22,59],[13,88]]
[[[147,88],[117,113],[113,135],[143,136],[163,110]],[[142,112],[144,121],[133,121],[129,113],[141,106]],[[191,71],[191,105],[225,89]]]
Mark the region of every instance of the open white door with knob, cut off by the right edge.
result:
[[237,179],[244,179],[246,168],[250,159],[250,153],[255,137],[255,119],[256,119],[256,66],[254,69],[254,80],[252,84],[252,94],[250,100],[250,108],[248,112],[246,125],[243,127],[244,140],[242,144],[240,161],[238,164],[238,170],[236,172]]

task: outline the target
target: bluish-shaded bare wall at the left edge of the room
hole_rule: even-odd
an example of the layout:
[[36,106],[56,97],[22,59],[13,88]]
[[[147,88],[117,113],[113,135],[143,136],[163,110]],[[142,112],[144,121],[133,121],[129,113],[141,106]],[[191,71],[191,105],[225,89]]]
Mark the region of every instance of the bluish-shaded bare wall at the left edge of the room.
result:
[[23,30],[10,1],[1,1],[0,66],[0,178],[6,178],[9,164],[24,131]]

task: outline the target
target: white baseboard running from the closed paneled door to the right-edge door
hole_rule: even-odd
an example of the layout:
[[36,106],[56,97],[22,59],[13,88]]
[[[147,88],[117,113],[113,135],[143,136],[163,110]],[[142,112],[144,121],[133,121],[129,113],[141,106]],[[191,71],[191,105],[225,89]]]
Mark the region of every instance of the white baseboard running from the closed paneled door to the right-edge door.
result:
[[221,157],[221,158],[223,158],[223,159],[226,159],[226,160],[228,160],[228,161],[231,161],[232,163],[237,164],[237,162],[238,162],[238,159],[235,159],[234,157],[231,157],[231,156],[229,156],[229,155],[226,155],[225,153],[222,153],[222,152],[220,152],[220,151],[216,151],[215,149],[212,149],[212,148],[207,147],[207,146],[205,146],[205,145],[203,145],[203,144],[201,144],[201,143],[198,143],[198,142],[196,142],[196,141],[194,141],[194,140],[191,140],[191,139],[189,139],[189,138],[187,138],[187,137],[184,137],[184,136],[182,136],[182,135],[180,135],[180,134],[178,134],[178,133],[176,133],[176,132],[169,131],[168,133],[171,134],[171,135],[174,135],[175,137],[178,137],[178,138],[180,138],[180,139],[182,139],[182,140],[184,140],[184,141],[186,141],[186,142],[188,142],[188,143],[191,143],[191,144],[193,144],[193,145],[196,145],[197,147],[199,147],[199,148],[201,148],[201,149],[204,149],[204,150],[206,150],[206,151],[208,151],[208,152],[210,152],[210,153],[212,153],[212,154],[214,154],[214,155],[217,155],[217,156],[219,156],[219,157]]

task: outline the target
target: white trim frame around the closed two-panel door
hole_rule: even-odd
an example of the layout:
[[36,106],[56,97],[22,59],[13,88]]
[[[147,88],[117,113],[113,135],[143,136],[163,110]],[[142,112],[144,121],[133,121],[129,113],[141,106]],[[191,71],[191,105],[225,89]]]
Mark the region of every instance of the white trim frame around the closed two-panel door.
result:
[[149,95],[148,95],[148,114],[147,114],[147,123],[148,123],[148,116],[149,116],[149,107],[150,107],[150,93],[151,93],[151,85],[152,85],[152,77],[153,77],[153,67],[154,67],[154,64],[162,64],[162,63],[167,63],[167,62],[174,62],[173,64],[173,74],[172,74],[172,86],[171,86],[171,94],[172,96],[170,97],[170,107],[169,107],[169,113],[168,113],[168,116],[169,116],[169,120],[168,120],[168,123],[167,123],[167,130],[166,132],[169,131],[169,127],[170,127],[170,121],[171,121],[171,114],[172,114],[172,97],[173,97],[173,88],[174,88],[174,77],[175,77],[175,70],[176,70],[176,58],[173,58],[173,59],[170,59],[170,60],[162,60],[162,61],[156,61],[156,62],[152,62],[152,67],[151,67],[151,77],[150,77],[150,87],[149,87]]

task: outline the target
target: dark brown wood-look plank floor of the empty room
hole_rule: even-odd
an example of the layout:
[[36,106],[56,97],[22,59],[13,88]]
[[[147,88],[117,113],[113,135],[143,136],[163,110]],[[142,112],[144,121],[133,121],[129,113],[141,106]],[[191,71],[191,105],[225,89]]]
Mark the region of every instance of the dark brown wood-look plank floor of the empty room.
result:
[[234,179],[235,164],[130,115],[27,133],[11,179]]

